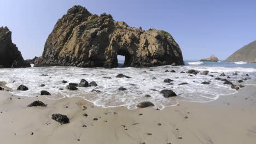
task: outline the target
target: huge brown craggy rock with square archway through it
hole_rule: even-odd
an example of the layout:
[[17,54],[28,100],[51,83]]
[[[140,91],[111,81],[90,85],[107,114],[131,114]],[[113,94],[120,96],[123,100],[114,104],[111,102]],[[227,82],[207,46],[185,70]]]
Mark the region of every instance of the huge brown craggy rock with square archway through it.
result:
[[114,68],[118,55],[125,56],[125,67],[184,65],[181,49],[169,33],[129,27],[111,15],[94,15],[74,5],[57,21],[34,66]]

